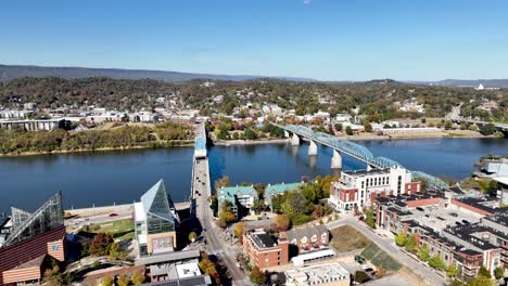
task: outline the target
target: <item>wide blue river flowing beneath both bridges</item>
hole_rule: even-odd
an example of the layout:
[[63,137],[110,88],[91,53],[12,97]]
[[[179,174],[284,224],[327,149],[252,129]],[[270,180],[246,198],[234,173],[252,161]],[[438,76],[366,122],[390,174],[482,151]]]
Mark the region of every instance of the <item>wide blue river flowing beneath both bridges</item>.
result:
[[[473,162],[487,153],[508,154],[504,139],[428,139],[361,141],[374,156],[399,161],[411,170],[453,178],[469,177]],[[319,147],[309,158],[307,145],[289,144],[213,146],[208,151],[212,179],[229,176],[241,182],[280,183],[303,176],[332,173],[332,152]],[[132,203],[158,179],[175,202],[190,193],[191,147],[55,154],[0,158],[0,213],[10,207],[34,210],[56,191],[64,206],[91,207]],[[365,165],[344,156],[344,169]]]

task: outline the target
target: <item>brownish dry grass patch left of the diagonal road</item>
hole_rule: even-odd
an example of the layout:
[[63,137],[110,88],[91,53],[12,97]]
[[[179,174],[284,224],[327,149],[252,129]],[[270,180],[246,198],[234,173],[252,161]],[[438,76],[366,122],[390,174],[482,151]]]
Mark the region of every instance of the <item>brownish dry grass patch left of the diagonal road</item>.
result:
[[343,225],[331,231],[331,245],[338,251],[351,251],[366,247],[370,239],[350,225]]

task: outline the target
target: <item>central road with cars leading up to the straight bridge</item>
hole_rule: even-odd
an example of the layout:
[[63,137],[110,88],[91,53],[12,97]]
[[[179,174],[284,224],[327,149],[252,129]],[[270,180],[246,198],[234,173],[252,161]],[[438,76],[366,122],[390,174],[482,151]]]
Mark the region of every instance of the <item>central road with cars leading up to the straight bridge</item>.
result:
[[200,159],[194,162],[192,190],[194,192],[193,196],[195,198],[195,212],[198,219],[200,220],[203,230],[206,230],[204,231],[204,236],[206,238],[208,255],[216,255],[217,257],[223,258],[226,266],[228,268],[229,274],[231,275],[233,285],[253,285],[246,275],[237,266],[234,252],[231,250],[231,247],[226,245],[218,235],[221,230],[215,224],[207,200],[212,195],[207,159]]

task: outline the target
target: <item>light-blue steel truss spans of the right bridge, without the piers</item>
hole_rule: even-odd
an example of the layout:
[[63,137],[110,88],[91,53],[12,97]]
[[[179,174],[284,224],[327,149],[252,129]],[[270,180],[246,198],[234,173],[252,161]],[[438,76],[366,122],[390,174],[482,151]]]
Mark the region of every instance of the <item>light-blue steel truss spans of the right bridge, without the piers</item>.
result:
[[[313,129],[306,126],[296,126],[296,125],[278,125],[271,123],[276,127],[279,127],[287,132],[296,134],[299,136],[307,138],[315,143],[319,143],[321,145],[328,146],[332,150],[335,150],[342,154],[345,154],[350,157],[353,157],[357,160],[366,162],[368,166],[378,168],[378,169],[385,169],[394,166],[403,167],[398,161],[386,158],[386,157],[376,157],[368,148],[363,145],[356,144],[351,141],[340,140],[335,136],[330,134],[314,131]],[[449,188],[449,185],[446,184],[443,180],[421,172],[421,171],[410,171],[412,178],[420,179],[426,181],[427,186],[433,190],[446,190]]]

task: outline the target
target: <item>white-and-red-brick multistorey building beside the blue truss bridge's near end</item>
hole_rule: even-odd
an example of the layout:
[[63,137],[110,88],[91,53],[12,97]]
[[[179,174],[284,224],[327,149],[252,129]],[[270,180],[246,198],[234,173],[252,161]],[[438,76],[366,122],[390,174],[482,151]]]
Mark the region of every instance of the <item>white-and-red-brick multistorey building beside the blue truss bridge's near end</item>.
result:
[[411,182],[411,173],[398,166],[341,172],[340,181],[330,186],[330,205],[340,211],[370,207],[376,196],[414,194],[420,182]]

